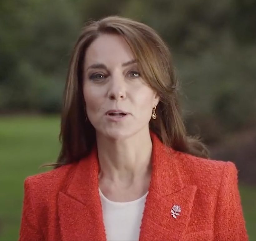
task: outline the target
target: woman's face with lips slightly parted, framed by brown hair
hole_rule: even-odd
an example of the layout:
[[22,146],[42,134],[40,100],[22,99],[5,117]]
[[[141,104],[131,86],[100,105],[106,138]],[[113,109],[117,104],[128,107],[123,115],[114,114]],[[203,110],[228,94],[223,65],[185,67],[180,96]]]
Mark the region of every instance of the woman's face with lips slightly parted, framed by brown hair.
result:
[[86,50],[83,94],[97,134],[120,139],[149,128],[156,93],[140,77],[124,38],[102,34]]

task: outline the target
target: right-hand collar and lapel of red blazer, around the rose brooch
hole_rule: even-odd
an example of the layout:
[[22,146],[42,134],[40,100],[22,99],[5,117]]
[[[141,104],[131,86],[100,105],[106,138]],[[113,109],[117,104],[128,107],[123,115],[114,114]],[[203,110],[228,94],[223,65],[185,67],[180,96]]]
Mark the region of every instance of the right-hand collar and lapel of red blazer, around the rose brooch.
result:
[[[182,240],[193,206],[196,186],[182,182],[177,152],[166,148],[155,134],[152,176],[140,227],[140,241]],[[181,207],[180,216],[171,215],[173,205]]]

